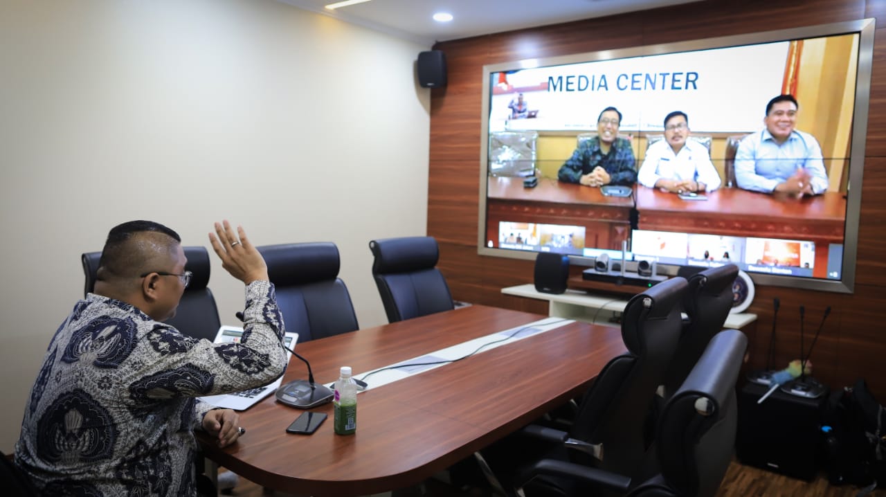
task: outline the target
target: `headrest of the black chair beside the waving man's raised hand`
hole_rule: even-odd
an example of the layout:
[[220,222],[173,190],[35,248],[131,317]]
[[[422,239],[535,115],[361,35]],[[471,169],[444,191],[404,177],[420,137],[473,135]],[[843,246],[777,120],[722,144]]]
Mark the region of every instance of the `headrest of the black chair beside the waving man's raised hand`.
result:
[[335,280],[340,261],[332,242],[280,244],[256,247],[268,265],[276,286],[293,286]]

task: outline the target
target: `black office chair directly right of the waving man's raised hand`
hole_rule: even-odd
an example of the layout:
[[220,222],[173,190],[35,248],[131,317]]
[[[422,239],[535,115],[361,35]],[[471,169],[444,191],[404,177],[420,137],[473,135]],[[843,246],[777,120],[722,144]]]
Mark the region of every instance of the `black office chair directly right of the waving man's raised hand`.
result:
[[299,342],[360,328],[345,282],[338,277],[338,247],[330,242],[256,247],[268,264],[286,330]]

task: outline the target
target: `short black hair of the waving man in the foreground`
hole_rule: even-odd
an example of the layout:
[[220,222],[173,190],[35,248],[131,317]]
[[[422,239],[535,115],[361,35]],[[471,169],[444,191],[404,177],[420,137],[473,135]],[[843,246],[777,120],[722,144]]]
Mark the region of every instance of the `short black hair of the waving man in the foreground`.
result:
[[[154,235],[144,240],[144,235]],[[138,238],[143,238],[139,240]],[[147,243],[141,243],[141,242]],[[153,259],[158,249],[171,251],[182,243],[182,237],[174,230],[154,221],[127,221],[114,226],[108,232],[102,257],[98,260],[97,279],[104,280],[107,273],[116,276],[135,276]],[[132,273],[132,274],[129,274]]]

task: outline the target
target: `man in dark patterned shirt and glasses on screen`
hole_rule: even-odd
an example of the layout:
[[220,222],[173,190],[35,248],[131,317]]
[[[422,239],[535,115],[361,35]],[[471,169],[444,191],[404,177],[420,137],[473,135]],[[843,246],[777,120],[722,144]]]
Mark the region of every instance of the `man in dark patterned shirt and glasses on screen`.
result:
[[605,184],[632,185],[637,181],[631,143],[618,137],[621,113],[615,107],[606,107],[597,118],[597,136],[582,142],[572,152],[557,179],[585,186]]

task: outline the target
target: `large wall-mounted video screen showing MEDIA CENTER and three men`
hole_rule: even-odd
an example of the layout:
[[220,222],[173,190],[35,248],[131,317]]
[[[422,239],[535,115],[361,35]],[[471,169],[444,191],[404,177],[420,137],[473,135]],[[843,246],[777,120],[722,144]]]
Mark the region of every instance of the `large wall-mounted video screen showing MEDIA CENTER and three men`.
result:
[[861,19],[484,66],[478,252],[851,292],[873,50]]

